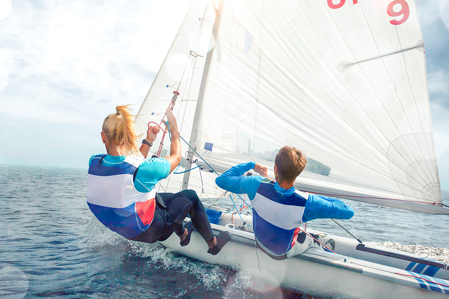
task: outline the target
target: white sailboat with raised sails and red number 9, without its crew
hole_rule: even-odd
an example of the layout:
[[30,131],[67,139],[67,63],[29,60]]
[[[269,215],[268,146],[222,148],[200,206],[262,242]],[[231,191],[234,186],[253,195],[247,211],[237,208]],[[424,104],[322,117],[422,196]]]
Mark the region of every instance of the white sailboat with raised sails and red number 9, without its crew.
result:
[[[308,160],[299,190],[449,214],[413,0],[194,1],[137,128],[145,132],[167,106],[186,141],[185,165],[161,192],[219,199],[219,173],[247,161],[273,169],[277,150],[291,145]],[[335,252],[277,261],[255,248],[250,214],[210,206],[208,215],[214,231],[231,233],[219,255],[206,254],[196,232],[189,246],[174,236],[162,244],[311,295],[448,298],[447,264],[312,230],[323,243],[332,237]]]

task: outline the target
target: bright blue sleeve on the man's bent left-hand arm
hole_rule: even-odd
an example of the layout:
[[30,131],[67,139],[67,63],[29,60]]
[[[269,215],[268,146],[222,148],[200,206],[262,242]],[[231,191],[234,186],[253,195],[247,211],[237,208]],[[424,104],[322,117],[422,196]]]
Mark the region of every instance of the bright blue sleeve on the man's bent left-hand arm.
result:
[[253,200],[263,177],[259,175],[241,176],[246,171],[254,168],[255,162],[247,162],[235,165],[226,170],[215,179],[216,184],[229,192],[248,194],[249,200]]

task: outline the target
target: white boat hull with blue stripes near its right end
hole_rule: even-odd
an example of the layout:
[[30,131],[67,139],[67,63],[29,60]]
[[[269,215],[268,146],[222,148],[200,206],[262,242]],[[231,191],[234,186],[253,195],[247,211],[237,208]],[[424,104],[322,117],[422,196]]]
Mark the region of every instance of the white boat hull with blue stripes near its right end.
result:
[[[252,278],[273,286],[325,298],[449,298],[448,281],[404,270],[410,265],[409,261],[398,262],[394,258],[359,252],[355,249],[357,242],[351,239],[323,236],[316,231],[323,236],[320,241],[325,242],[331,237],[335,239],[337,253],[340,250],[348,255],[360,255],[365,257],[365,260],[326,252],[321,248],[309,248],[301,255],[277,261],[255,248],[253,233],[217,224],[212,224],[212,228],[216,234],[224,230],[231,233],[231,240],[217,256],[207,253],[208,246],[196,231],[192,233],[191,242],[186,247],[180,246],[179,238],[175,234],[162,244],[179,254],[206,263],[227,265],[237,271],[249,271]],[[405,266],[397,266],[398,263]],[[449,271],[440,270],[436,276],[443,275],[446,278]]]

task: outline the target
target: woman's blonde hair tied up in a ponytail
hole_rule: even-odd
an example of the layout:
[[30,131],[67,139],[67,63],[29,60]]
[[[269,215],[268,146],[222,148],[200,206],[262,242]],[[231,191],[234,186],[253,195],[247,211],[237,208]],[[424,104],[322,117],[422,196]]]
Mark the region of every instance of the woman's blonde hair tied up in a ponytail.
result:
[[[129,106],[131,105],[115,107],[117,112],[111,113],[103,121],[103,133],[121,155],[140,153],[136,144],[140,136],[134,128],[134,115],[130,113]],[[125,149],[124,152],[120,150],[122,147]]]

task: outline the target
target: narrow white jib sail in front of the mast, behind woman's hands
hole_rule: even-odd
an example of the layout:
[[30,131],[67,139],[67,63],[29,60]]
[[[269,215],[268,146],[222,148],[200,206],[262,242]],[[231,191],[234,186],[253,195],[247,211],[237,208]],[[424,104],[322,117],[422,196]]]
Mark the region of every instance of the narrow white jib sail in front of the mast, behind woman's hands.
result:
[[[199,87],[207,55],[215,12],[207,5],[207,1],[195,1],[161,66],[136,117],[138,134],[145,133],[149,122],[160,123],[165,110],[178,91],[180,96],[174,107],[174,114],[178,121],[181,137],[187,141],[191,135],[192,123],[196,109]],[[154,124],[151,124],[154,125]],[[162,125],[162,127],[164,127]],[[161,142],[162,134],[154,143],[152,152],[156,153]],[[143,138],[143,137],[142,137]],[[169,135],[164,140],[164,149],[170,149]],[[182,142],[183,156],[187,157],[188,145]],[[166,153],[167,153],[166,151]],[[184,171],[180,167],[176,172]],[[201,194],[217,198],[224,190],[215,185],[214,173],[200,173],[200,169],[191,171],[190,188]],[[182,186],[182,174],[171,174],[169,178],[160,182],[156,187],[159,192],[178,192]]]

